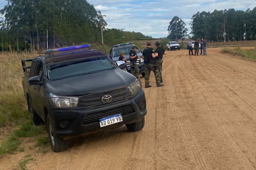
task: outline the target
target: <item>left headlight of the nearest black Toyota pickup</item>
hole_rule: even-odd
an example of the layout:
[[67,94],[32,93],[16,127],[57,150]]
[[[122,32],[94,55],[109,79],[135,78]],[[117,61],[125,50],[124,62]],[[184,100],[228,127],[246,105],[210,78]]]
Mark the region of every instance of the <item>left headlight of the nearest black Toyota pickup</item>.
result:
[[78,100],[78,97],[49,97],[50,105],[53,108],[75,108]]

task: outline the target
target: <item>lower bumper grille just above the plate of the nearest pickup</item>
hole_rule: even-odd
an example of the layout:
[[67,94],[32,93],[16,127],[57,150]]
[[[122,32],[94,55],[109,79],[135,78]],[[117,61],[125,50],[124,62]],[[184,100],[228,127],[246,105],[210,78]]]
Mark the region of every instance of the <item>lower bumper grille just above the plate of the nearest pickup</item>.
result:
[[121,113],[122,115],[127,115],[127,114],[133,113],[133,112],[134,112],[134,109],[132,108],[132,106],[126,105],[126,106],[122,106],[119,108],[113,108],[113,109],[109,109],[106,111],[88,114],[88,115],[84,116],[83,125],[86,125],[88,123],[99,122],[99,119],[102,119],[102,118],[105,118],[108,116],[112,116],[112,115],[116,115],[119,113]]

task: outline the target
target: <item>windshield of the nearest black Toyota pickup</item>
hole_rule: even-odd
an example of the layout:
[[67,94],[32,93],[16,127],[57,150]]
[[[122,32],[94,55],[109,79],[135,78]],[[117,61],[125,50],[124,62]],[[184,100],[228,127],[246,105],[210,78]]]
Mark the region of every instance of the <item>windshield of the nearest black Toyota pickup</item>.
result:
[[107,57],[79,59],[47,66],[49,79],[62,79],[74,75],[92,74],[113,69],[114,65]]

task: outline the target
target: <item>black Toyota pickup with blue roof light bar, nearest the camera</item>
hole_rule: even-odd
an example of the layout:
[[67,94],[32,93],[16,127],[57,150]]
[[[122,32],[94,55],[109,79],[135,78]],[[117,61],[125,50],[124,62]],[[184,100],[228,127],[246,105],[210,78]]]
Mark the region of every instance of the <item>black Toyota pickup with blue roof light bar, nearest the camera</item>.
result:
[[46,124],[52,150],[67,149],[67,139],[126,125],[144,127],[145,94],[140,77],[120,68],[90,44],[44,51],[22,59],[23,91],[35,125]]

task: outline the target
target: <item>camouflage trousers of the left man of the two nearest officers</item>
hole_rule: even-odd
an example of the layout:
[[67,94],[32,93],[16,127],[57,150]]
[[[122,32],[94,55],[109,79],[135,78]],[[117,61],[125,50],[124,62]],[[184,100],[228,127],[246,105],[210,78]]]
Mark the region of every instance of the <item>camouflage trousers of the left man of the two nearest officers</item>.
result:
[[149,85],[151,71],[154,72],[157,85],[160,85],[160,74],[156,64],[145,64],[145,87]]

